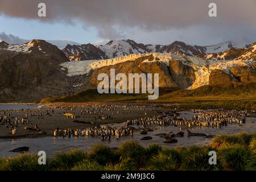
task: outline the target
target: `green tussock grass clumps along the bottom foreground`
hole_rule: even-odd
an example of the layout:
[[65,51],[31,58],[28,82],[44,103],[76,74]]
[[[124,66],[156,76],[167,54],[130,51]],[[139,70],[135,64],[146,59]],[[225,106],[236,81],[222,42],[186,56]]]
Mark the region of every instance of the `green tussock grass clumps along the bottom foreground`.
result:
[[[127,141],[119,148],[95,145],[89,152],[61,152],[46,165],[38,156],[21,154],[0,159],[0,170],[253,170],[256,171],[256,134],[217,135],[209,146],[162,148],[142,147]],[[217,165],[209,164],[209,151],[216,151]]]

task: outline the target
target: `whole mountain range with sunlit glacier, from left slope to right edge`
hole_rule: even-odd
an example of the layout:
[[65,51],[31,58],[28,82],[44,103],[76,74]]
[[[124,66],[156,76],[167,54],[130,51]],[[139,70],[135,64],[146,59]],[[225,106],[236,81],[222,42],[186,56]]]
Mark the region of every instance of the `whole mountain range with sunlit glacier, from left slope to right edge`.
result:
[[0,102],[40,101],[97,89],[97,75],[112,68],[116,74],[159,73],[159,87],[165,92],[245,85],[256,82],[256,43],[193,46],[176,41],[161,46],[110,40],[60,50],[45,40],[12,45],[2,41]]

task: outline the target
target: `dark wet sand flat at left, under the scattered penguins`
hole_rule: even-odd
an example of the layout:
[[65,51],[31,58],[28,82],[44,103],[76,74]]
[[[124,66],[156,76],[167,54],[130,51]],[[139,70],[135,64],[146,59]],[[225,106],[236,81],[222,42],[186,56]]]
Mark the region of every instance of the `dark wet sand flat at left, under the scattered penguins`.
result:
[[[98,115],[93,115],[86,113],[86,115],[81,115],[81,110],[96,111],[100,113],[98,108],[96,109],[98,103],[88,103],[88,104],[50,104],[44,108],[39,109],[26,109],[26,110],[15,110],[15,111],[6,111],[0,110],[0,115],[3,115],[3,111],[10,113],[11,121],[14,121],[15,117],[21,120],[27,114],[27,119],[31,123],[22,124],[20,123],[16,135],[11,134],[11,130],[6,127],[6,125],[0,125],[0,139],[15,139],[15,138],[36,138],[36,137],[47,137],[51,135],[50,130],[60,127],[61,129],[67,128],[86,128],[96,125],[109,124],[109,123],[122,123],[126,122],[127,119],[136,119],[146,116],[150,117],[153,115],[160,115],[164,112],[169,112],[168,109],[161,109],[159,107],[151,105],[142,105],[142,104],[127,104],[125,106],[121,104],[110,104],[110,105],[101,105],[103,111],[101,114],[111,115],[113,119],[98,119]],[[63,107],[64,109],[62,109]],[[79,108],[76,108],[79,107]],[[71,110],[73,108],[73,110]],[[115,108],[115,110],[113,110]],[[109,109],[109,110],[108,110]],[[52,110],[54,111],[52,113]],[[47,114],[47,111],[49,114]],[[63,114],[72,113],[77,116],[77,118],[67,118]],[[31,116],[31,113],[34,113],[35,116]],[[39,114],[42,113],[42,117]],[[113,114],[114,113],[114,114]],[[94,119],[96,117],[96,120]],[[92,124],[93,122],[93,124]],[[39,134],[36,131],[24,130],[24,127],[32,127],[38,125],[38,127],[46,131],[46,134]]]

